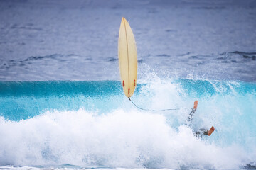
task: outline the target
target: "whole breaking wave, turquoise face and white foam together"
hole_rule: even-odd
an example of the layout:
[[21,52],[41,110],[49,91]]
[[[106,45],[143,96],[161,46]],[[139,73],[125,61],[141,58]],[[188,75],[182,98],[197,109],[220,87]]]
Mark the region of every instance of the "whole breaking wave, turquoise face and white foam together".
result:
[[[119,81],[1,81],[0,166],[240,169],[255,164],[255,83],[154,79],[138,84],[131,99],[156,111],[136,108]],[[180,109],[157,111],[165,108]],[[193,135],[212,125],[210,137]]]

